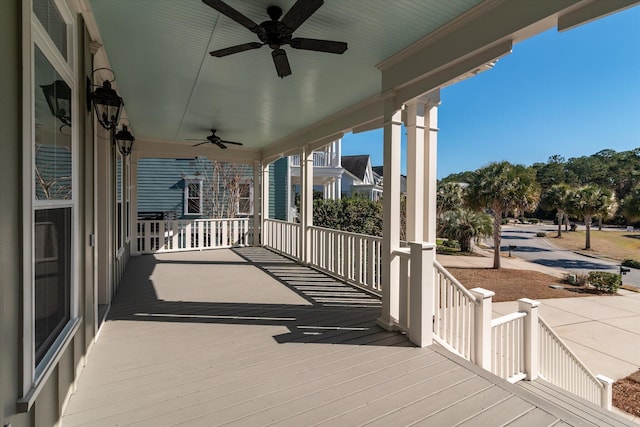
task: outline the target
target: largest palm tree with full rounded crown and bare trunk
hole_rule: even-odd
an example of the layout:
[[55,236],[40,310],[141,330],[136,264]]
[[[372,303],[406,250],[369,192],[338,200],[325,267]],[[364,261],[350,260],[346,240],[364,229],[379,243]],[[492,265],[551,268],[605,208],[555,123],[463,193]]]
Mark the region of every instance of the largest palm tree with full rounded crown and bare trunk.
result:
[[531,210],[540,197],[535,171],[509,162],[491,163],[478,169],[467,193],[472,206],[493,214],[493,268],[500,268],[502,215],[514,210]]

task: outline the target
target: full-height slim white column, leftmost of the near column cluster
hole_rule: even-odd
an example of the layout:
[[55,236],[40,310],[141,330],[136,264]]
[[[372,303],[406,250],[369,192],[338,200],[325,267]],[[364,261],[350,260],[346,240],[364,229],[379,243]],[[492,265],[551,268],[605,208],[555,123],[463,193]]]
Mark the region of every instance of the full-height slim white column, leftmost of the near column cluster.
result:
[[400,135],[402,117],[393,94],[384,101],[384,196],[382,232],[382,315],[378,325],[394,329],[400,302]]

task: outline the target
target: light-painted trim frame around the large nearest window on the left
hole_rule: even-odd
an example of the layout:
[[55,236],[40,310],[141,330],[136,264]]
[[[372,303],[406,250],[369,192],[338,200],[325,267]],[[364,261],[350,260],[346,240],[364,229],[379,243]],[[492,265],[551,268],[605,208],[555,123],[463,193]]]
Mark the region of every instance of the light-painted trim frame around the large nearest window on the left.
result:
[[[69,347],[75,335],[81,317],[78,307],[78,283],[79,283],[79,217],[78,217],[78,185],[79,185],[79,118],[80,118],[80,89],[77,84],[77,21],[69,6],[63,0],[53,0],[60,16],[67,24],[67,57],[60,53],[57,46],[50,38],[45,28],[40,23],[33,11],[32,1],[22,2],[22,96],[25,102],[22,104],[23,118],[23,183],[28,183],[28,190],[23,192],[23,279],[22,279],[22,377],[23,396],[18,400],[18,407],[24,407],[21,402],[27,399],[27,407],[30,407],[37,398],[47,378],[57,366],[57,361]],[[35,198],[35,52],[36,46],[59,74],[62,80],[71,88],[71,198],[68,200],[36,200]],[[41,209],[69,207],[71,209],[70,227],[70,263],[69,274],[69,321],[64,325],[51,347],[36,366],[35,363],[35,211]],[[27,409],[28,410],[28,409]]]

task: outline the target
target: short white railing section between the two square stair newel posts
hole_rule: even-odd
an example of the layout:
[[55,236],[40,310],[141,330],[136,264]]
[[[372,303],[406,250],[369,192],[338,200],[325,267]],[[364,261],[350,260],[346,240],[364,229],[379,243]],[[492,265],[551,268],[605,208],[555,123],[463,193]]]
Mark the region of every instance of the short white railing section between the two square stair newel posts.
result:
[[527,377],[525,372],[524,318],[515,312],[491,321],[491,372],[510,383]]

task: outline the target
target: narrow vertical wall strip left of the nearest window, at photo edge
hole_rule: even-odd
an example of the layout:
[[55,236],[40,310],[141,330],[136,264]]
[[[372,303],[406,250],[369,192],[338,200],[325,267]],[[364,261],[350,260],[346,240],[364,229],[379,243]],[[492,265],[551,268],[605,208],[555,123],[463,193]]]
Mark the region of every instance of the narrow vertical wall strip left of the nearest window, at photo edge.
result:
[[0,3],[0,423],[25,424],[15,415],[22,387],[20,372],[20,286],[22,283],[22,77],[21,2]]

